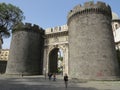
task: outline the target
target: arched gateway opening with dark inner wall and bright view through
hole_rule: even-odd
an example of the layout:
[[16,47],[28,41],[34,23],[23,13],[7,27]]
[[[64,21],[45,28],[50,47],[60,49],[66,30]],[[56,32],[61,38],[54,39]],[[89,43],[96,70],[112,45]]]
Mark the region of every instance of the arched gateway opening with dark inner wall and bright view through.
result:
[[63,52],[59,48],[49,54],[49,73],[63,74]]

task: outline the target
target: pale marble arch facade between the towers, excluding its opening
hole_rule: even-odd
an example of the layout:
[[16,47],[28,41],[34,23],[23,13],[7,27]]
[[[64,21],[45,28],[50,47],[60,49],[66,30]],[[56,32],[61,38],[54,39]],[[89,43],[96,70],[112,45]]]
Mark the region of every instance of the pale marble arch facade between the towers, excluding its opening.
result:
[[49,72],[49,54],[55,48],[63,51],[63,74],[68,73],[68,27],[67,25],[46,29],[43,74]]

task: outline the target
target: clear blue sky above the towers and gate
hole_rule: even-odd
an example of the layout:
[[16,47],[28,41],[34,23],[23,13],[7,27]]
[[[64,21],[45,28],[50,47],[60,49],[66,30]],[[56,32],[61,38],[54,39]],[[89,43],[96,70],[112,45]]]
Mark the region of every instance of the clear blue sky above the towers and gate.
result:
[[[68,12],[76,5],[98,0],[0,0],[18,6],[26,17],[24,22],[37,24],[42,28],[61,26],[67,22]],[[120,0],[99,0],[111,6],[120,16]],[[3,48],[10,48],[10,39],[4,39]]]

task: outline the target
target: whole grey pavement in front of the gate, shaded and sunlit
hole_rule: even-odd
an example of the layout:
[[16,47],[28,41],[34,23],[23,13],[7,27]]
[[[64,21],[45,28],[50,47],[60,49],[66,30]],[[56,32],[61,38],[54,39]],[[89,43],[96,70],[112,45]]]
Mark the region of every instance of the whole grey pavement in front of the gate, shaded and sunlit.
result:
[[0,76],[0,90],[120,90],[120,81],[71,81],[65,88],[64,81],[49,81],[44,77]]

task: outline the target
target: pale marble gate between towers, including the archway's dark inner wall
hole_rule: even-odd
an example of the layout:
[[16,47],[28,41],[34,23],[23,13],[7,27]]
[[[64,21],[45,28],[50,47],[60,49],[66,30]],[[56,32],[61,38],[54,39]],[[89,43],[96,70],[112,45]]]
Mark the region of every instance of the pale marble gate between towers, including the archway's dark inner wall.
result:
[[45,30],[43,73],[56,73],[58,64],[58,51],[63,55],[63,74],[68,73],[68,27],[48,28]]

